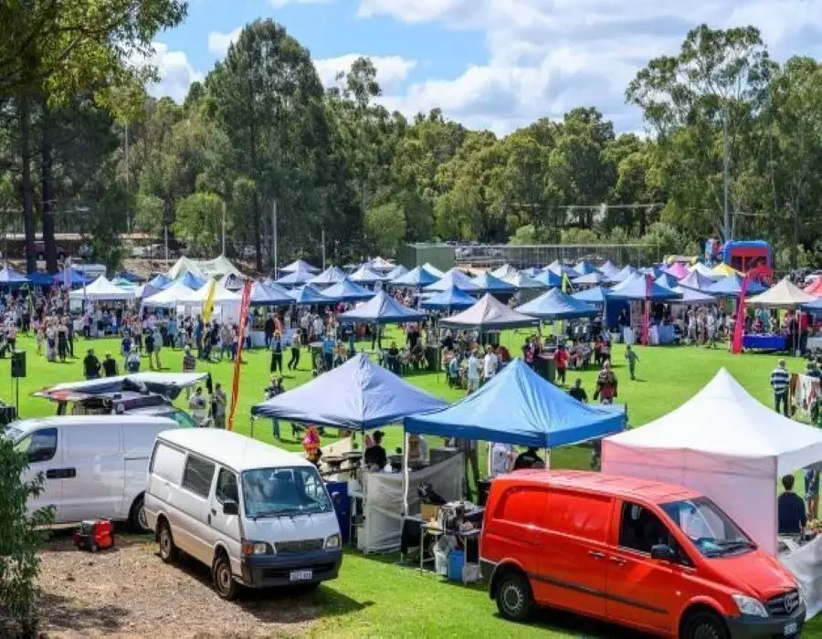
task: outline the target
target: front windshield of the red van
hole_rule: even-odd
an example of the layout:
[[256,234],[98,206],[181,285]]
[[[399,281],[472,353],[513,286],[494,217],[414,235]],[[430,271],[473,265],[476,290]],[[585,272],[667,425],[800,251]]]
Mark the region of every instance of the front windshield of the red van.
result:
[[660,508],[705,557],[739,554],[756,548],[756,544],[709,498],[673,501]]

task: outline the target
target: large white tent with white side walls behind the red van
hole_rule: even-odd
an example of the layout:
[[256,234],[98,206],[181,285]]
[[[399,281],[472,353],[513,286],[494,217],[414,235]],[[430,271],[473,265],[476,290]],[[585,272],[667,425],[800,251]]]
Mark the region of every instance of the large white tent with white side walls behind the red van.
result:
[[672,413],[602,444],[603,472],[697,490],[772,555],[777,481],[819,461],[822,430],[759,403],[724,368]]

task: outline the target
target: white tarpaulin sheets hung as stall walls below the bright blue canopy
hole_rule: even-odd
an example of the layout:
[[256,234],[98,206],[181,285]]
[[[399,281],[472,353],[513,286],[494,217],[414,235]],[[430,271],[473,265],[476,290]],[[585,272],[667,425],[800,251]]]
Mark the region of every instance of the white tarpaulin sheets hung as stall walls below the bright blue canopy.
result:
[[[422,482],[430,483],[446,501],[457,501],[462,497],[464,476],[461,455],[410,473],[408,511],[419,512],[416,488]],[[403,530],[403,473],[365,473],[363,477],[365,519],[357,547],[364,552],[399,550]]]

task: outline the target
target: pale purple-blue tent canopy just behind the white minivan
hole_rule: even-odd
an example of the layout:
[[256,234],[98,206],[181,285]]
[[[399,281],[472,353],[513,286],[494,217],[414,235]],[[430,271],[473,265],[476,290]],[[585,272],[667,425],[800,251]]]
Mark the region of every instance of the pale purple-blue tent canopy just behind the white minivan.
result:
[[359,353],[293,391],[252,406],[251,414],[365,431],[447,405]]

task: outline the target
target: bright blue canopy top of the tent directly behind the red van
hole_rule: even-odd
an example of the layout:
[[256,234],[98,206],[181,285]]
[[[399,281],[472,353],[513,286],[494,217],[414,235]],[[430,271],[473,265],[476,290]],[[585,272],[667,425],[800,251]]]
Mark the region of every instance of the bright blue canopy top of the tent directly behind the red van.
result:
[[403,424],[406,433],[553,448],[619,433],[625,410],[577,402],[517,358],[479,391]]

